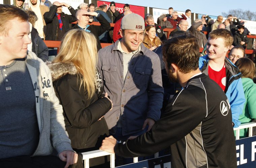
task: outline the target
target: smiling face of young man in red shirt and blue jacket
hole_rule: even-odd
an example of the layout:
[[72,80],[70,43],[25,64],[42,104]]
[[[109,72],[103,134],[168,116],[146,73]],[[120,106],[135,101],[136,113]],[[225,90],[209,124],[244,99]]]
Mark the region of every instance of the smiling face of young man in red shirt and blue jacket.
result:
[[225,47],[225,40],[223,38],[211,39],[209,37],[206,52],[210,59],[223,59],[226,56],[230,46]]

